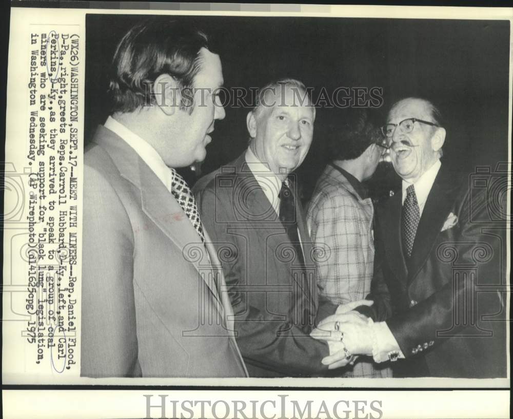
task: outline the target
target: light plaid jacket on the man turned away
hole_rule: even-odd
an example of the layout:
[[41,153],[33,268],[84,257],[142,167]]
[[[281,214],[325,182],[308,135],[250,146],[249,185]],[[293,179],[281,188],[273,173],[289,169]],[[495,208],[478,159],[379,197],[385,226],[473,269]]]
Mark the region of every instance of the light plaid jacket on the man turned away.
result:
[[[321,295],[333,304],[364,299],[370,292],[374,271],[374,206],[362,199],[335,164],[322,173],[308,206],[307,222],[315,246],[326,247],[317,268]],[[385,378],[386,365],[360,357],[344,368],[344,376]]]

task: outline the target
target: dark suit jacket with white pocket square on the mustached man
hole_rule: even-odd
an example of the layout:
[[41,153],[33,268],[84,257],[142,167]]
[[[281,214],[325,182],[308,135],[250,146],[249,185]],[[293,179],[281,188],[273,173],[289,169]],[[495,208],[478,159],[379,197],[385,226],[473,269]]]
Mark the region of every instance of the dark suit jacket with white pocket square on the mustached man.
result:
[[394,376],[506,376],[505,223],[490,212],[496,202],[483,180],[491,177],[474,180],[442,164],[409,260],[401,192],[378,208],[380,267],[370,298],[406,357],[393,363]]

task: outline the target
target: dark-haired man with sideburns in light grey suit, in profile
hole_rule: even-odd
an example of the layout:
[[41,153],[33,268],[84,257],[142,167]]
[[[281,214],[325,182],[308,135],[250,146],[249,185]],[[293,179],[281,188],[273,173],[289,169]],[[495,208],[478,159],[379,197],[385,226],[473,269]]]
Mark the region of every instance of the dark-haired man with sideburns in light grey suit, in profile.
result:
[[83,376],[247,375],[219,260],[174,170],[205,158],[222,83],[190,25],[143,23],[117,46],[113,112],[84,156]]

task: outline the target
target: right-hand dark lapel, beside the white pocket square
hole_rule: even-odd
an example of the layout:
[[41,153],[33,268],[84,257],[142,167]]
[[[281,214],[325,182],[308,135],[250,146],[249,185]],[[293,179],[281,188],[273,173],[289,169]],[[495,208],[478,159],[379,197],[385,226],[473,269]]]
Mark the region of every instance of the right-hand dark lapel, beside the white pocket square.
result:
[[441,168],[427,196],[415,241],[413,241],[411,257],[408,262],[408,279],[410,281],[417,275],[429,256],[453,201],[451,179]]

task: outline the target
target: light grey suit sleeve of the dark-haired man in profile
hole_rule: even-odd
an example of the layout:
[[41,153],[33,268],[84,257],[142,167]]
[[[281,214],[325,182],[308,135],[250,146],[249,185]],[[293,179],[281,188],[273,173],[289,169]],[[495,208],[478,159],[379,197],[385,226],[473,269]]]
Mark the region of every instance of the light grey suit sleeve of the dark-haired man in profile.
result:
[[134,376],[133,233],[105,178],[84,168],[81,375]]

